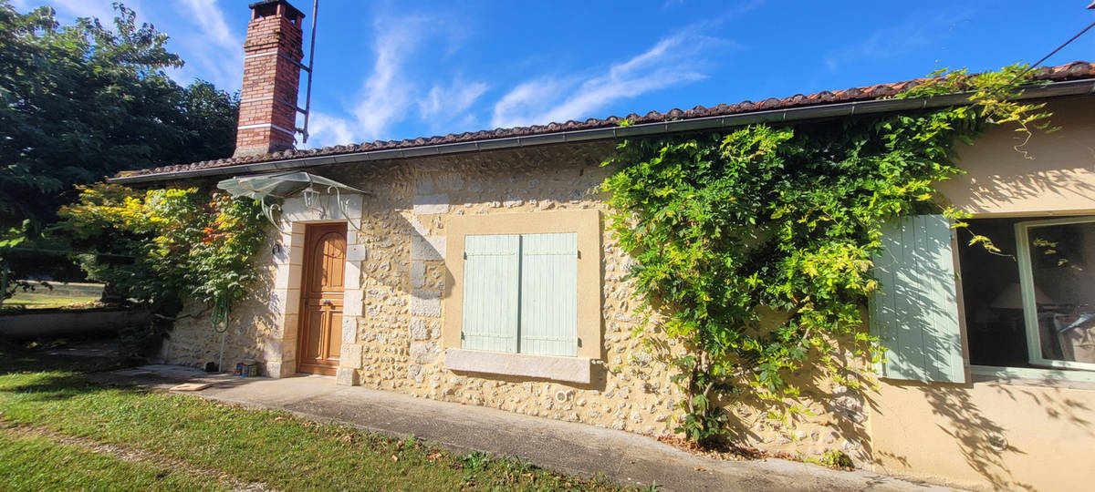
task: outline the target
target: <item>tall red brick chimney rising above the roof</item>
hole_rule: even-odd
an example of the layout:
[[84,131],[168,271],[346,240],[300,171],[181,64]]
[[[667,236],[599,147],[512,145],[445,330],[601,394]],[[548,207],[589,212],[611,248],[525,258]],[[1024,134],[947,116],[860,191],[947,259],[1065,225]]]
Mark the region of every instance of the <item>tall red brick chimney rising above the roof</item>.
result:
[[304,14],[285,0],[252,3],[243,42],[240,126],[233,156],[293,148]]

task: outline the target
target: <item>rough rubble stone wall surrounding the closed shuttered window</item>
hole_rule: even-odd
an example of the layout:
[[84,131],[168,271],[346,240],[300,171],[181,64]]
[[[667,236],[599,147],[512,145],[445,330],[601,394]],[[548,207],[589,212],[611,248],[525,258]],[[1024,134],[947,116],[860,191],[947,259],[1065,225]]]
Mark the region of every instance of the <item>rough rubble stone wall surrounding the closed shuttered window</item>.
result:
[[[601,358],[590,384],[454,373],[443,366],[447,221],[468,214],[607,211],[597,186],[611,173],[600,166],[611,150],[603,143],[548,147],[318,171],[370,194],[362,203],[361,231],[350,234],[349,248],[362,249],[360,262],[353,266],[360,272],[362,304],[359,313],[351,307],[344,313],[338,383],[648,435],[671,434],[667,421],[677,413],[680,395],[659,354],[632,336],[641,323],[633,284],[624,280],[632,260],[603,224]],[[277,315],[257,293],[262,290],[256,288],[255,298],[233,312],[233,358],[268,356],[264,337],[276,336],[276,330],[263,327]],[[205,333],[205,327],[207,321],[181,323],[171,342],[172,360],[200,362],[218,349],[219,339]],[[681,350],[672,342],[666,347]],[[234,359],[226,355],[228,361]],[[780,423],[768,419],[759,403],[736,401],[729,410],[739,442],[803,456],[840,448],[865,462],[869,448],[863,397],[846,388],[816,387],[808,374],[800,376],[804,405],[814,414]]]

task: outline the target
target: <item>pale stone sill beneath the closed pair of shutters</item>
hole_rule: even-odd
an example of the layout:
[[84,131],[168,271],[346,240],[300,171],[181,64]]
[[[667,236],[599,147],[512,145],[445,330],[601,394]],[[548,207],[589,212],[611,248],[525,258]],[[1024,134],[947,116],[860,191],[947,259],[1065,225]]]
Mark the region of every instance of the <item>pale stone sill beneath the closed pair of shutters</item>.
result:
[[588,385],[592,361],[586,358],[531,355],[527,353],[486,352],[448,349],[445,367],[450,371],[538,377]]

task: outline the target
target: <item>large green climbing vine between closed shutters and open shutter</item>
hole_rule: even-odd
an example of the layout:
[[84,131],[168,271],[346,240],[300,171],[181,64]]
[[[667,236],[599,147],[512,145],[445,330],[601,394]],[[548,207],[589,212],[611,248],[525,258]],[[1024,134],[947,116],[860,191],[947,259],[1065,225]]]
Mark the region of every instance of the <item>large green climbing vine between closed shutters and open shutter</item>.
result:
[[935,189],[961,173],[956,142],[1003,124],[1029,136],[1049,116],[1014,99],[1028,82],[1023,66],[932,77],[897,97],[968,92],[969,104],[627,140],[604,161],[619,167],[602,185],[610,227],[658,320],[638,335],[664,331],[687,349],[668,359],[684,395],[676,431],[702,444],[724,438],[724,405],[744,391],[794,410],[788,374],[808,362],[834,384],[871,380],[863,371],[880,352],[862,308],[878,289],[871,258],[883,223],[960,219]]

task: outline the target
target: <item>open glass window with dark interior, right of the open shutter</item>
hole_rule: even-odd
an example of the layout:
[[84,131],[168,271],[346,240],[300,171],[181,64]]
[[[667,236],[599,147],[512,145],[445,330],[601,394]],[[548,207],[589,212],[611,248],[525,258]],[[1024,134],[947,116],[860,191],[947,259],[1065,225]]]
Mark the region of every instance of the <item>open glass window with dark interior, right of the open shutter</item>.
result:
[[969,223],[999,248],[959,232],[970,364],[1095,370],[1095,218]]

